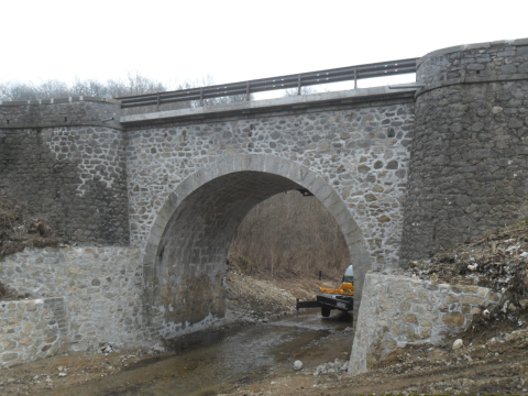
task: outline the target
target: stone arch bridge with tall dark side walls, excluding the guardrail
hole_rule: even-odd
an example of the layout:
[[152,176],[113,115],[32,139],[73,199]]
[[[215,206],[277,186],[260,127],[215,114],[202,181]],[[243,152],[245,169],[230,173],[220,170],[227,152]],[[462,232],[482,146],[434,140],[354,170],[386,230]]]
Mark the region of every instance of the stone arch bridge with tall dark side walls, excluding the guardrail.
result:
[[101,98],[3,102],[0,185],[78,248],[10,257],[0,278],[65,297],[74,349],[198,330],[223,317],[241,220],[302,189],[340,226],[359,301],[366,271],[526,211],[528,41],[428,54],[417,80],[136,116]]

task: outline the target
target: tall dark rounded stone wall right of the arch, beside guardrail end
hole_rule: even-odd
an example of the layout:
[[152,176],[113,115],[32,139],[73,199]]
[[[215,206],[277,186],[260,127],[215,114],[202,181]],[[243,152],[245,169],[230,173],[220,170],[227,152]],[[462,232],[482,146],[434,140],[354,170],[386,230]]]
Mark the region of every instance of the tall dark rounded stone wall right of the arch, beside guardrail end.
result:
[[402,265],[528,215],[528,40],[419,62]]

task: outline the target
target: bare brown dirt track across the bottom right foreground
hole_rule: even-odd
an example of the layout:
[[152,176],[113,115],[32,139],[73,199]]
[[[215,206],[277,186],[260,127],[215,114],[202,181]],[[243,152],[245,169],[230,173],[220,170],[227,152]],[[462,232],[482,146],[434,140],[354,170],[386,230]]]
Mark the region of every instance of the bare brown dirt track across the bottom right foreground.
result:
[[458,351],[424,345],[395,351],[354,377],[310,373],[254,383],[232,395],[520,395],[528,392],[528,331]]

